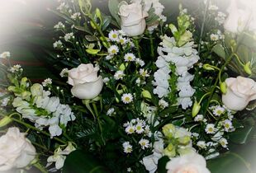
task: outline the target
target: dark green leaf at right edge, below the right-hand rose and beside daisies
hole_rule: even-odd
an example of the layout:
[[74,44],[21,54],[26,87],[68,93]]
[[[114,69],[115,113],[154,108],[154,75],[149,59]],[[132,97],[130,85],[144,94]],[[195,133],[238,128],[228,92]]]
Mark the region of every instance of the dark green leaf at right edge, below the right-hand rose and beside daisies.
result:
[[254,135],[254,127],[244,127],[243,129],[236,129],[235,132],[230,133],[230,141],[233,143],[244,144],[248,143]]

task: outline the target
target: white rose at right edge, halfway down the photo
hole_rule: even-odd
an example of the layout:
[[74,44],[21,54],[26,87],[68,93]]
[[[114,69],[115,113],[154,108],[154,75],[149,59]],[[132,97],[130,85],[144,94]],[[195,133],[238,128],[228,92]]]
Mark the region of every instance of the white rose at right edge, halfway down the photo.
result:
[[256,99],[256,82],[247,77],[230,77],[225,80],[227,92],[222,102],[230,110],[244,110],[249,101]]

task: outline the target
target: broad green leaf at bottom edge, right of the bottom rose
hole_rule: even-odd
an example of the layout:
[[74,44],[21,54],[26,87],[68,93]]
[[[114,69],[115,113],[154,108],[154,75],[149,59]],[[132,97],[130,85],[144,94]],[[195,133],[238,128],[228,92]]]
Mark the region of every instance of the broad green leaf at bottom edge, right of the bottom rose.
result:
[[235,152],[226,152],[207,161],[211,173],[251,173],[249,164]]

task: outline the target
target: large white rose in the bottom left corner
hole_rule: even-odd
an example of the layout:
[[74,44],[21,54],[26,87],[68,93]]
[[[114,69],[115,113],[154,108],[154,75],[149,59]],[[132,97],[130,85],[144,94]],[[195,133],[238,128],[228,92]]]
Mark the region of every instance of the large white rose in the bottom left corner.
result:
[[0,138],[0,171],[28,166],[36,157],[36,149],[17,128],[9,128]]

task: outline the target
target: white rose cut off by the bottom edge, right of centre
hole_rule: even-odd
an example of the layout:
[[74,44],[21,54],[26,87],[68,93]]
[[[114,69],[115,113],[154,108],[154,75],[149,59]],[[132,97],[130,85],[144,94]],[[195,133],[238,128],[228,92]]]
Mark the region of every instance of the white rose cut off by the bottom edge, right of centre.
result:
[[196,152],[172,158],[166,165],[167,173],[189,172],[210,173],[206,168],[206,160]]

